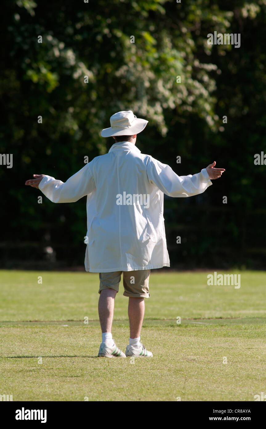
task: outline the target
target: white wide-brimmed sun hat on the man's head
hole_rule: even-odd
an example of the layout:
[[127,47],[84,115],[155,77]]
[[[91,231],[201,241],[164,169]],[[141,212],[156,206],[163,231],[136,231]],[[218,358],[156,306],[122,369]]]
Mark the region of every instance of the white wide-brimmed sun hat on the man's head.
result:
[[110,128],[102,130],[102,137],[133,136],[144,130],[149,121],[139,119],[132,110],[117,112],[110,118]]

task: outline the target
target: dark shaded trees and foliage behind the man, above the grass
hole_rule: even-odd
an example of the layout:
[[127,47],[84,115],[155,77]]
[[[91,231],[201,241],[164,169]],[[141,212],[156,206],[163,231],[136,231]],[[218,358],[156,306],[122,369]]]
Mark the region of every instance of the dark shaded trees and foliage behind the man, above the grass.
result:
[[[129,109],[149,120],[137,136],[142,153],[178,175],[213,160],[226,169],[200,196],[165,196],[171,268],[265,268],[265,166],[254,154],[266,152],[266,1],[1,8],[0,154],[13,154],[11,169],[0,165],[2,268],[84,264],[86,198],[54,204],[24,183],[33,174],[66,181],[85,156],[105,154],[114,140],[100,131]],[[214,31],[240,33],[240,48],[208,45]]]

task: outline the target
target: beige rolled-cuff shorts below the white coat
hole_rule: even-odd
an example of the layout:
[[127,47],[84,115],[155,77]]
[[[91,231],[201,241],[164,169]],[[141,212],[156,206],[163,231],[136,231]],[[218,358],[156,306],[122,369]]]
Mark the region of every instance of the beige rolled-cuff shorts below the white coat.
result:
[[100,289],[114,289],[118,292],[123,273],[124,296],[133,296],[136,298],[149,298],[149,275],[150,269],[137,271],[114,271],[100,272]]

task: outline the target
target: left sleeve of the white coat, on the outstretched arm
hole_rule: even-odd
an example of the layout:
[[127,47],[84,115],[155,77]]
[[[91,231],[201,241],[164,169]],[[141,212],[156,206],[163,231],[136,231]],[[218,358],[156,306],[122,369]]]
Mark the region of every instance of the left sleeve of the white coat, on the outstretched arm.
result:
[[78,199],[96,190],[90,164],[86,164],[65,183],[46,175],[40,182],[39,189],[52,202],[78,201]]

